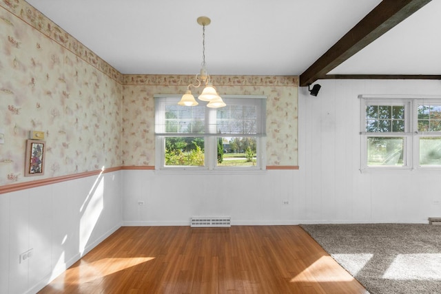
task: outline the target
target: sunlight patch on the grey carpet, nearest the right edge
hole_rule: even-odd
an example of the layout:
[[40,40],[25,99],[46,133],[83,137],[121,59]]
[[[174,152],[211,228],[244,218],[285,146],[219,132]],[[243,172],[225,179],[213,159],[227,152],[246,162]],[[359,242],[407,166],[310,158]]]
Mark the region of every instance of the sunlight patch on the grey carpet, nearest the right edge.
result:
[[389,280],[441,280],[440,253],[398,254],[383,278]]

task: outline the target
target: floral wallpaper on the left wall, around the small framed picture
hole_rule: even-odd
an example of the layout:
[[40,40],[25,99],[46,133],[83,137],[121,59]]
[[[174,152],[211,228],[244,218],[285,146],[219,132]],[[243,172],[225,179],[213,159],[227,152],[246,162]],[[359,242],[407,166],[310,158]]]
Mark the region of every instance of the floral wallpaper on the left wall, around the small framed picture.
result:
[[[2,7],[0,23],[0,185],[120,167],[121,84]],[[30,130],[45,172],[25,178]]]

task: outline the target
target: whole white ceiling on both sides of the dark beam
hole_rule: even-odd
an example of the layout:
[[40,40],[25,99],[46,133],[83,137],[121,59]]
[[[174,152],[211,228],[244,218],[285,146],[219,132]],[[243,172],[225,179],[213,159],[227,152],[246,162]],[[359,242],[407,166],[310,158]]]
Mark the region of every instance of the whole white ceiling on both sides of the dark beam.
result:
[[[123,74],[299,75],[380,0],[27,0]],[[441,74],[433,0],[330,74]]]

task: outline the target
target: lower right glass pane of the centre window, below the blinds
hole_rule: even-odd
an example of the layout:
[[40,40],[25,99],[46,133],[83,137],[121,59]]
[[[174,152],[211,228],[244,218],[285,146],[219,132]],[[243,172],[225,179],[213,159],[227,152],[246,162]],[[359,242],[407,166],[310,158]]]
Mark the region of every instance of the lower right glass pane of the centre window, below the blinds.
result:
[[218,167],[256,166],[256,137],[218,138],[217,165]]

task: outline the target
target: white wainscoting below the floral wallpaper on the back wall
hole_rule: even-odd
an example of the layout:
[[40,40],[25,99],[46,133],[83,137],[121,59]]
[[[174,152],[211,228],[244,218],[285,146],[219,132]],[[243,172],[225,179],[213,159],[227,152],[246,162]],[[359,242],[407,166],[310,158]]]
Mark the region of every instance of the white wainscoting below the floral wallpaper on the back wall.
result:
[[[294,224],[292,217],[299,208],[294,174],[296,170],[252,174],[125,171],[124,224],[189,226],[193,216],[231,216],[232,225]],[[139,205],[140,201],[144,204]]]

